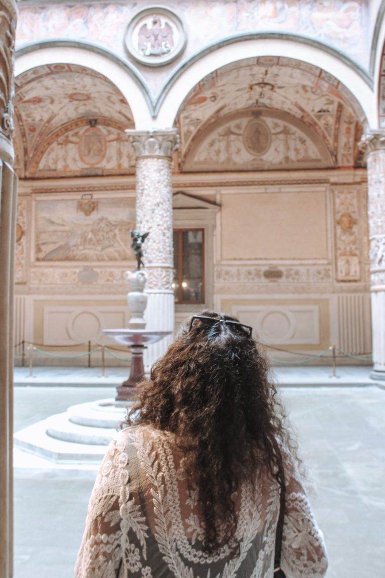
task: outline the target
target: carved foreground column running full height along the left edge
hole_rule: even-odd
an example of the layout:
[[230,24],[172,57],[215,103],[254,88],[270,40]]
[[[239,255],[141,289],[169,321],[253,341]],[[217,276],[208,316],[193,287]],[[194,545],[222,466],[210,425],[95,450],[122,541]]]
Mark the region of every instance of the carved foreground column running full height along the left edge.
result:
[[13,575],[13,255],[16,183],[13,164],[14,0],[0,0],[0,576]]

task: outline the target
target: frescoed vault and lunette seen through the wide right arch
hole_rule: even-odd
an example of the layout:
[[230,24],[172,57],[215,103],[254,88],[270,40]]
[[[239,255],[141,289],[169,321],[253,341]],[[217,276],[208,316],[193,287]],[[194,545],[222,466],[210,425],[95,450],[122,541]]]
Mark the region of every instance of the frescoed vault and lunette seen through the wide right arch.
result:
[[292,58],[249,58],[206,76],[186,97],[177,117],[180,167],[357,166],[364,123],[353,95],[322,69]]

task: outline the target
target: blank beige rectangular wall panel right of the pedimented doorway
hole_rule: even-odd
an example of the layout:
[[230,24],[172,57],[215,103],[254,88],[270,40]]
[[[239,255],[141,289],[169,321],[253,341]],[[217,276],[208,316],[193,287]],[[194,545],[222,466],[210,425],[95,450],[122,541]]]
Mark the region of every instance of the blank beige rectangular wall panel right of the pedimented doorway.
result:
[[327,257],[324,192],[236,193],[221,201],[223,259]]

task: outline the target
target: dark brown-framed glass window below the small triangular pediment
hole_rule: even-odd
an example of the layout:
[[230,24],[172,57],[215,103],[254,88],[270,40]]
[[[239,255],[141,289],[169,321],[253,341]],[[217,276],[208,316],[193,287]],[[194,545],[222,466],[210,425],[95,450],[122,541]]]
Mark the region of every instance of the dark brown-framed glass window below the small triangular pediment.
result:
[[175,303],[204,303],[204,229],[174,229]]

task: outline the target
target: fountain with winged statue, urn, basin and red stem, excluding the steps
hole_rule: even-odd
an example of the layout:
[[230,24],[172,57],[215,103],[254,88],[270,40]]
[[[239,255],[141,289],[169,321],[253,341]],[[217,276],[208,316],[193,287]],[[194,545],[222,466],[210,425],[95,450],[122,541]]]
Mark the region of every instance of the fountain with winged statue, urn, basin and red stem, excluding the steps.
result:
[[117,388],[115,401],[129,401],[136,391],[136,384],[144,376],[143,350],[147,345],[156,343],[171,334],[171,331],[154,331],[145,328],[144,312],[147,307],[147,294],[144,292],[147,276],[143,271],[143,243],[148,233],[140,234],[131,231],[132,249],[136,256],[137,268],[135,271],[126,271],[126,281],[130,283],[130,292],[127,294],[128,307],[131,318],[126,329],[104,329],[103,334],[131,349],[130,376]]

